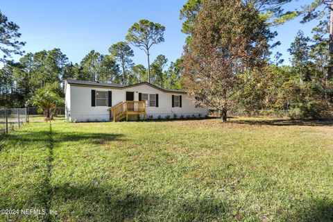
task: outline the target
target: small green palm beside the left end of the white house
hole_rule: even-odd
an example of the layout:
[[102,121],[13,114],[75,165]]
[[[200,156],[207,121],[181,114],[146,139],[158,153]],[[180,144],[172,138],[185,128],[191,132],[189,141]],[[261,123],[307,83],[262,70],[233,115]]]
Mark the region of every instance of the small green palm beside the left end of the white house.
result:
[[63,101],[58,94],[46,88],[38,89],[35,96],[31,97],[31,104],[42,110],[45,120],[53,119],[59,105],[62,103]]

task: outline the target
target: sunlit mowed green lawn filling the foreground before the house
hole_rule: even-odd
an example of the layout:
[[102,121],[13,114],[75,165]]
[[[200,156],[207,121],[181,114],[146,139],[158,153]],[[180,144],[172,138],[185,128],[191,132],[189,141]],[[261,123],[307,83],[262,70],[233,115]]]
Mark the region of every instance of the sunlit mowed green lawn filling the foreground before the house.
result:
[[0,151],[0,221],[333,221],[321,122],[35,122]]

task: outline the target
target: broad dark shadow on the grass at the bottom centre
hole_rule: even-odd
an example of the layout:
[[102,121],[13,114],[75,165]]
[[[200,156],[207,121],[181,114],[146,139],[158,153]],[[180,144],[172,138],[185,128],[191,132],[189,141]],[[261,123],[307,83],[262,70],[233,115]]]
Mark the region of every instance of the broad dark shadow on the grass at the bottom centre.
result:
[[60,221],[219,221],[230,212],[225,200],[173,200],[116,186],[56,186],[53,206],[58,205],[68,210],[60,210]]

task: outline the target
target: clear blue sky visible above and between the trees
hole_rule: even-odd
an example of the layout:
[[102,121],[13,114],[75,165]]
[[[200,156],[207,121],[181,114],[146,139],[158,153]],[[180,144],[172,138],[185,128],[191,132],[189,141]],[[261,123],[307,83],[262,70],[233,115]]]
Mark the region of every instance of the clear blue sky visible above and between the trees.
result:
[[[108,53],[108,48],[125,40],[128,28],[139,21],[149,19],[166,27],[165,42],[153,46],[151,60],[164,54],[169,62],[182,54],[182,45],[186,35],[180,32],[182,21],[179,10],[186,0],[100,0],[100,1],[3,1],[0,10],[12,22],[20,26],[22,40],[26,41],[24,51],[36,52],[42,49],[60,48],[71,62],[80,62],[94,49],[100,53]],[[300,0],[286,6],[293,10],[310,0]],[[301,29],[311,35],[318,21],[300,24],[299,19],[275,28],[282,44],[276,49],[283,55],[288,64],[289,48],[293,37]],[[136,64],[146,66],[144,51],[135,49]],[[17,60],[19,57],[15,56]]]

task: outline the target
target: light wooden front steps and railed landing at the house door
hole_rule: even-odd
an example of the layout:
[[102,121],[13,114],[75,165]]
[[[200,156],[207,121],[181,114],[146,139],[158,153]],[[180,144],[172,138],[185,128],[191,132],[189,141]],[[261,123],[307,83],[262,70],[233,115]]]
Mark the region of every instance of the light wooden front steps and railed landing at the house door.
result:
[[146,119],[146,102],[145,101],[123,101],[114,107],[108,109],[110,111],[110,120],[114,122],[121,121],[126,118],[128,121],[129,115],[144,115]]

